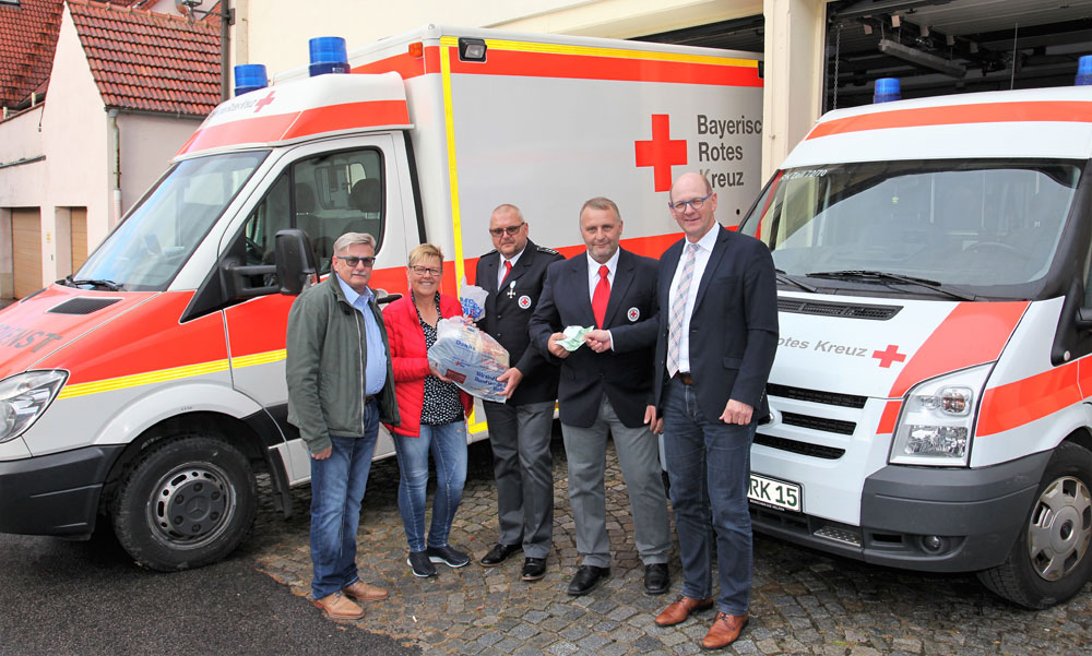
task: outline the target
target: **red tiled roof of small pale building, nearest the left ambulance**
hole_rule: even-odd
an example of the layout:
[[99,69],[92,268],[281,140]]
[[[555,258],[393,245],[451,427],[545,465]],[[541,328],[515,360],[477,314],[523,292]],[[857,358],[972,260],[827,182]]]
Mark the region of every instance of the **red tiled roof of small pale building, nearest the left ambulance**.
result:
[[217,21],[87,0],[68,5],[107,107],[204,116],[219,103]]

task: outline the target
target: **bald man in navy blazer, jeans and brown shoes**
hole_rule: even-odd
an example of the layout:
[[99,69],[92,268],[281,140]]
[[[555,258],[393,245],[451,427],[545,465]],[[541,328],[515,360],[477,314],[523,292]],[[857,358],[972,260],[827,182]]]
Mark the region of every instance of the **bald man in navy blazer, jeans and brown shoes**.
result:
[[682,560],[682,594],[661,627],[714,604],[705,648],[734,642],[749,619],[750,446],[769,414],[765,382],[778,348],[773,258],[761,241],[716,223],[716,194],[698,174],[672,187],[669,211],[685,232],[660,259],[660,321],[653,404],[663,415],[664,456]]

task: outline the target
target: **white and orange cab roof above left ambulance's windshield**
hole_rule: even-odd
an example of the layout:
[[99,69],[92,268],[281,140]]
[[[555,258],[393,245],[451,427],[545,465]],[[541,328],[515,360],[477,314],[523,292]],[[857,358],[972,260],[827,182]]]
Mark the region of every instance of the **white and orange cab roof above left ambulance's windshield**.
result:
[[397,73],[327,74],[221,103],[175,159],[365,129],[411,127],[405,86]]

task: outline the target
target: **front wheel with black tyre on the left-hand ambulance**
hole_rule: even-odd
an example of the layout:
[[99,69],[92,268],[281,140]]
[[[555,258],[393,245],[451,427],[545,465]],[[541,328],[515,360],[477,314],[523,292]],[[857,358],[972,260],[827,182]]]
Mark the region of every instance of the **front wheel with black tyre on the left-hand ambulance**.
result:
[[213,438],[154,444],[121,484],[118,541],[139,564],[164,572],[224,558],[250,533],[257,485],[246,456]]

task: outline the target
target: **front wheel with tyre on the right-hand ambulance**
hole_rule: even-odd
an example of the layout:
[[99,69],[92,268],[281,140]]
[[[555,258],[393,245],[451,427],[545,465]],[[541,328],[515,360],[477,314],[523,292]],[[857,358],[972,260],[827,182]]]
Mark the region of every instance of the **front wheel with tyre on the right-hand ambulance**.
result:
[[1092,453],[1072,442],[1055,449],[1012,551],[978,573],[983,585],[1025,608],[1076,595],[1092,574]]

